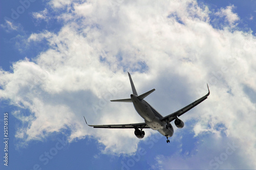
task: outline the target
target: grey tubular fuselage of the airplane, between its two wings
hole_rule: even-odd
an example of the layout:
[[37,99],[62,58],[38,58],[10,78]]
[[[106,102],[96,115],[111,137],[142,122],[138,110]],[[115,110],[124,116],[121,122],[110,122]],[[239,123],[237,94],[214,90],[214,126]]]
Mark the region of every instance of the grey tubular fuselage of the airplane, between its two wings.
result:
[[158,113],[150,104],[144,100],[139,100],[135,94],[131,94],[131,99],[135,110],[145,120],[145,123],[148,127],[153,130],[157,130],[159,133],[166,137],[173,136],[173,126],[170,123],[161,122],[160,118],[163,116]]

